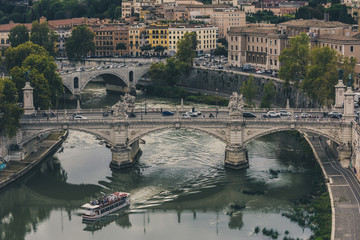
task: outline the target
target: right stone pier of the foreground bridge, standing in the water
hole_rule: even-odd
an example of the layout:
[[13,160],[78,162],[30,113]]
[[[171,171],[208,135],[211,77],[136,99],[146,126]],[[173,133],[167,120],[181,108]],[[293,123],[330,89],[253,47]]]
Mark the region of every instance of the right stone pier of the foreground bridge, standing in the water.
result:
[[225,167],[243,169],[249,167],[246,148],[238,145],[227,145],[225,148]]

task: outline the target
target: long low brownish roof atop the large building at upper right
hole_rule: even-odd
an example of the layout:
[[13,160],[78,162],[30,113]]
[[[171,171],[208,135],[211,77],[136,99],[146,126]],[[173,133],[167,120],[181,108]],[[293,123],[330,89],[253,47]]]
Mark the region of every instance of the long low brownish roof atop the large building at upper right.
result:
[[334,27],[350,27],[349,24],[345,24],[338,21],[324,21],[324,20],[291,20],[283,23],[279,23],[279,26],[287,27],[321,27],[321,28],[334,28]]

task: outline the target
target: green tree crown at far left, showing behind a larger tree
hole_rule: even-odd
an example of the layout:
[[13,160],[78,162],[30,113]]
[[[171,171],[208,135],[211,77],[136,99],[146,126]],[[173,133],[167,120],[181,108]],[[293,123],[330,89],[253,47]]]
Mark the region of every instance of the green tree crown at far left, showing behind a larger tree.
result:
[[13,67],[20,67],[23,61],[31,54],[49,56],[49,53],[41,46],[32,42],[20,44],[17,47],[9,47],[5,51],[5,65],[11,70]]

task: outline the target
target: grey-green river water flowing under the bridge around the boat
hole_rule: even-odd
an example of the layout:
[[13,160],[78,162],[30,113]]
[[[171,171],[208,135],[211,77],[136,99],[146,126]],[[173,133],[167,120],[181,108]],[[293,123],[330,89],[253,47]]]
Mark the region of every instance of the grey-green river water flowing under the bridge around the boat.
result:
[[[286,230],[294,238],[311,235],[281,216],[321,175],[295,138],[251,142],[250,167],[238,171],[223,166],[225,144],[202,132],[164,130],[144,140],[133,168],[112,171],[109,149],[70,132],[63,152],[0,192],[0,239],[269,239],[254,233],[257,226],[276,229],[279,239]],[[82,223],[80,206],[113,191],[130,192],[130,207]]]

